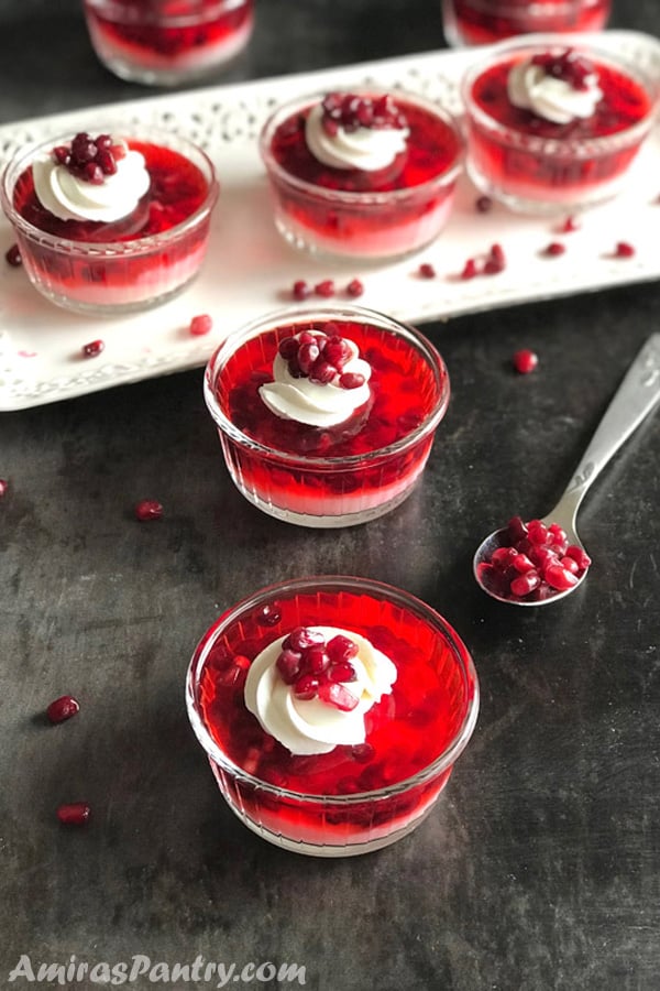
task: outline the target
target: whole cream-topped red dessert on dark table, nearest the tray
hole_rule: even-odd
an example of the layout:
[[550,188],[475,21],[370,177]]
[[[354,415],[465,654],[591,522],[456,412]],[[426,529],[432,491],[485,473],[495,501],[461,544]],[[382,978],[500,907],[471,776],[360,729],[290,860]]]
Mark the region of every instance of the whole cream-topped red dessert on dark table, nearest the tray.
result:
[[360,307],[267,315],[232,334],[205,374],[234,483],[304,526],[364,523],[399,505],[449,393],[422,335]]

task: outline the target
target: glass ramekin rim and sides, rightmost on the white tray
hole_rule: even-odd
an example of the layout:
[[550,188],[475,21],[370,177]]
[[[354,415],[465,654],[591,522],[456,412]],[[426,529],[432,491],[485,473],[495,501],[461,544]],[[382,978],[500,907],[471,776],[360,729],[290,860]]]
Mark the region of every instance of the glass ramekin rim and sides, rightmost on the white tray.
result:
[[[638,84],[648,97],[648,112],[613,134],[542,137],[506,127],[474,99],[473,87],[488,69],[568,46],[596,66],[615,69]],[[503,42],[470,67],[461,90],[468,174],[483,193],[522,213],[560,214],[618,195],[657,116],[658,81],[626,58],[601,52],[578,35],[570,42],[554,33]]]

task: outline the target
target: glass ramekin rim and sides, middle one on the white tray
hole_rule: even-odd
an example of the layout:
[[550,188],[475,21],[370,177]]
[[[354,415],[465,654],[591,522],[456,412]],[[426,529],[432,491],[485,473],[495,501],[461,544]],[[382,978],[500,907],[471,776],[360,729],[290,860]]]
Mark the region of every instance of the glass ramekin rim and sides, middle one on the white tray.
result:
[[[351,89],[358,96],[384,96],[375,87]],[[266,167],[274,220],[284,239],[296,248],[329,258],[383,262],[405,258],[433,241],[446,226],[463,168],[463,139],[451,115],[431,100],[399,90],[389,95],[404,106],[440,122],[451,132],[457,154],[433,178],[405,189],[346,192],[315,185],[287,172],[272,152],[282,123],[318,104],[322,94],[296,98],[280,106],[265,122],[260,153]]]

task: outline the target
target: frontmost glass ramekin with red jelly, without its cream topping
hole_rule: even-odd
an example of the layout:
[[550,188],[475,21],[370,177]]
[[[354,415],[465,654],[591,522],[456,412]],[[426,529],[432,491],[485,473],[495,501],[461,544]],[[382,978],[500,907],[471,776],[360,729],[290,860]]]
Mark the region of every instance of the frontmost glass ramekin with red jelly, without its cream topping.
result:
[[[300,764],[297,759],[292,762],[284,749],[279,755],[273,750],[273,738],[246,709],[246,722],[239,726],[246,669],[256,653],[294,627],[314,624],[362,633],[388,653],[399,669],[397,682],[402,682],[398,689],[395,682],[387,697],[388,715],[378,723],[378,742],[372,747],[367,734],[365,744],[354,752],[351,748],[332,751],[344,764],[341,772],[339,765],[330,766],[323,772],[326,776],[315,778],[326,782],[322,794],[286,787],[287,772],[297,773],[296,781],[300,781]],[[193,655],[186,704],[220,791],[245,826],[286,850],[348,857],[395,842],[429,814],[474,730],[479,682],[465,644],[425,602],[369,578],[322,576],[261,589],[216,620]],[[409,717],[407,723],[405,712],[411,711],[426,714],[419,716],[424,725],[414,726]],[[431,737],[430,727],[437,737]],[[239,731],[248,731],[253,741],[251,771],[227,753],[231,733]],[[223,732],[224,744],[219,742]],[[398,767],[407,766],[400,764],[402,751],[396,742],[402,732],[426,737],[424,745],[437,739],[438,752],[415,773],[397,780]],[[262,765],[263,774],[268,781],[258,774],[264,755],[267,763]],[[302,760],[302,776],[318,772],[314,758]],[[348,775],[340,778],[343,769]],[[340,782],[350,793],[333,794],[340,791]],[[377,786],[367,786],[370,782]]]

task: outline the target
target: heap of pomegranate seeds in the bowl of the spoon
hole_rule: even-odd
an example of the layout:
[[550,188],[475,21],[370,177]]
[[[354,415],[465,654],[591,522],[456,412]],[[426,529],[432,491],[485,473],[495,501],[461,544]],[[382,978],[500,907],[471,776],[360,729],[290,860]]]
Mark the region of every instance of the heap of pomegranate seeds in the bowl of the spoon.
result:
[[480,577],[501,598],[538,601],[573,588],[590,565],[590,556],[569,544],[558,523],[525,523],[514,516],[503,545],[481,566]]

